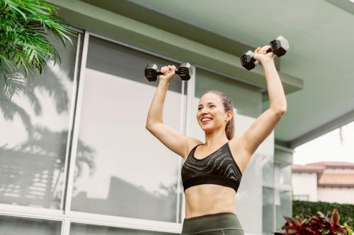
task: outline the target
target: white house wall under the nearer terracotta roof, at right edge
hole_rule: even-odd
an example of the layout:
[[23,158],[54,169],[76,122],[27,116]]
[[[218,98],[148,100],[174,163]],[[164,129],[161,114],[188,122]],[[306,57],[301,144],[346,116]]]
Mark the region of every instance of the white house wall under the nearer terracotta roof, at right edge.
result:
[[354,204],[354,188],[345,187],[319,187],[317,189],[319,201],[329,203]]

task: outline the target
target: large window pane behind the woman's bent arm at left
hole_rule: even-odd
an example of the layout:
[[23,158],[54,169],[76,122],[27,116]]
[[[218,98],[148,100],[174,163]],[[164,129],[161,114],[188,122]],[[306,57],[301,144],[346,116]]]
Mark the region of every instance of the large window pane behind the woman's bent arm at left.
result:
[[[144,78],[152,62],[172,64],[90,37],[78,123],[86,152],[77,152],[72,210],[176,222],[181,157],[145,128],[158,84]],[[164,123],[176,131],[181,86],[176,76],[164,105]]]

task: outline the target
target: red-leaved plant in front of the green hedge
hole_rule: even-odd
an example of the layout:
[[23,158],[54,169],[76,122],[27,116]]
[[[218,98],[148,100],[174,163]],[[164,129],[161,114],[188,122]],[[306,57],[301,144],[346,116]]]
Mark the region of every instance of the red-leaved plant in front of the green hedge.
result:
[[284,217],[286,222],[282,226],[285,233],[277,233],[284,235],[334,235],[334,234],[353,234],[353,229],[348,224],[339,224],[338,210],[334,209],[329,218],[329,213],[325,216],[322,212],[317,215],[295,216],[295,218]]

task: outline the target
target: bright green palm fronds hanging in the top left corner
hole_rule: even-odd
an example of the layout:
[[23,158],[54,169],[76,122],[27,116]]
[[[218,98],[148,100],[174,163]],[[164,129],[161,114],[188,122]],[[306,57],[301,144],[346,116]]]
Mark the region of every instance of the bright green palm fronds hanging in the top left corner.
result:
[[46,61],[60,56],[45,37],[49,32],[72,43],[74,35],[57,16],[56,7],[43,0],[0,0],[0,77],[6,83],[11,74],[23,68],[25,76],[42,73]]

